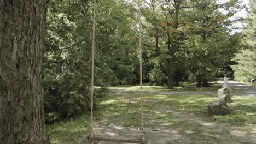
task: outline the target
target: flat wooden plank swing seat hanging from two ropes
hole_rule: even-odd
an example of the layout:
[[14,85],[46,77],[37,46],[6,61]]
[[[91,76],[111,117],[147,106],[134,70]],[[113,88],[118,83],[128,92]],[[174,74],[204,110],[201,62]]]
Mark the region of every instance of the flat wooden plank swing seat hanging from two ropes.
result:
[[109,138],[109,137],[102,137],[102,136],[88,136],[87,139],[89,141],[108,141],[108,142],[124,142],[124,143],[145,143],[147,144],[147,140],[131,140],[131,139],[118,139],[118,138]]

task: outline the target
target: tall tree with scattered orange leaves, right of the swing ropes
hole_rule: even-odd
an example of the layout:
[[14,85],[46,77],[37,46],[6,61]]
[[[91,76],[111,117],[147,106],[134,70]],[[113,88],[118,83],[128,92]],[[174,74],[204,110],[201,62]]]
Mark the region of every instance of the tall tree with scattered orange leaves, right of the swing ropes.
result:
[[[154,3],[157,3],[157,5],[153,5]],[[157,21],[153,18],[150,19],[150,14],[144,14],[146,17],[145,23],[150,23],[150,25],[153,26],[150,27],[144,24],[144,26],[148,28],[149,34],[155,38],[155,40],[150,39],[150,41],[155,45],[157,44],[159,47],[159,49],[155,49],[158,55],[152,55],[150,59],[150,61],[154,63],[154,69],[151,71],[152,74],[157,74],[158,76],[154,77],[159,77],[163,80],[165,77],[160,75],[164,73],[167,78],[167,88],[172,88],[173,85],[178,85],[178,82],[182,79],[187,79],[184,75],[194,75],[198,78],[197,80],[200,84],[207,86],[210,77],[213,77],[215,73],[218,72],[218,67],[222,67],[223,64],[221,65],[209,61],[209,63],[205,63],[204,65],[201,65],[199,62],[199,65],[191,63],[191,65],[188,66],[184,62],[190,58],[189,55],[196,49],[200,50],[202,55],[205,55],[203,57],[199,55],[203,62],[207,61],[209,56],[212,58],[216,56],[214,51],[221,51],[222,45],[218,43],[224,41],[218,39],[216,35],[225,33],[223,38],[225,38],[225,42],[228,43],[228,27],[230,27],[232,22],[236,21],[230,20],[229,18],[238,10],[234,7],[238,4],[238,1],[234,0],[218,4],[217,1],[210,0],[158,0],[154,1],[154,3],[150,3],[148,4],[149,6],[146,5],[146,7],[151,7],[151,15],[156,11],[158,14]],[[221,9],[229,13],[222,13]],[[158,23],[160,26],[156,27]],[[157,33],[155,33],[156,28],[158,28]],[[156,40],[156,38],[158,39]],[[190,42],[195,43],[190,45]],[[210,53],[207,49],[212,52]],[[232,47],[230,49],[232,49]],[[197,55],[199,53],[195,51],[195,54]],[[222,52],[220,52],[220,54],[225,55],[225,53]],[[230,57],[228,59],[228,62],[229,61]],[[205,67],[205,65],[207,66],[209,64],[211,66],[214,65],[214,69],[212,69],[213,67],[211,69]],[[196,67],[191,68],[194,65]],[[188,67],[186,68],[185,66]],[[186,74],[191,69],[193,69],[194,72],[190,71],[191,74]],[[156,71],[158,71],[158,73],[156,73]]]

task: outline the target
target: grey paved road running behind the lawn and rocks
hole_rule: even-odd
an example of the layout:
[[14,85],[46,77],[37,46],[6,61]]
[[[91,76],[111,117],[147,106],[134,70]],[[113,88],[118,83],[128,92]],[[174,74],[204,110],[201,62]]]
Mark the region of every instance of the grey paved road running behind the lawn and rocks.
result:
[[[219,79],[217,81],[220,84],[223,84],[224,81],[223,79]],[[254,96],[256,97],[256,87],[246,85],[243,83],[239,83],[237,81],[228,81],[228,86],[235,89],[240,89],[241,91],[244,92],[232,92],[230,94],[232,95],[246,95],[246,96]],[[138,93],[139,91],[134,91],[134,90],[123,90],[123,89],[112,89],[112,92],[127,92],[127,93]],[[143,91],[143,93],[155,93],[155,94],[181,94],[181,95],[213,95],[216,94],[217,92],[166,92],[166,91],[157,91],[157,92],[152,92],[152,91]]]

